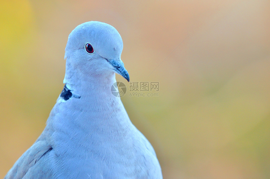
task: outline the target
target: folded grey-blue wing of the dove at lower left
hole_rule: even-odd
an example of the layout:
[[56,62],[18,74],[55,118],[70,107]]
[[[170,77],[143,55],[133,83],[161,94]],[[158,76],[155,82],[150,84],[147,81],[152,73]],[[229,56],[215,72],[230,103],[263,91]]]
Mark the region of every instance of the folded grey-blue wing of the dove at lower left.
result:
[[42,164],[48,161],[48,154],[52,150],[47,141],[37,141],[15,162],[4,179],[31,178],[30,176],[33,176],[32,178],[46,176],[47,178],[51,176],[46,165]]

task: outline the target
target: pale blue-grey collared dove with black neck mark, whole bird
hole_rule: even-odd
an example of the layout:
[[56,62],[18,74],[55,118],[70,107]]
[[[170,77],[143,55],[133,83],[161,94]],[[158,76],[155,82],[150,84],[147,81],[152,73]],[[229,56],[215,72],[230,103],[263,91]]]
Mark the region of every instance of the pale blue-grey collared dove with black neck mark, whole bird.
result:
[[44,131],[8,171],[8,178],[162,178],[154,148],[132,124],[115,74],[129,81],[123,41],[111,25],[78,25],[65,48],[64,88]]

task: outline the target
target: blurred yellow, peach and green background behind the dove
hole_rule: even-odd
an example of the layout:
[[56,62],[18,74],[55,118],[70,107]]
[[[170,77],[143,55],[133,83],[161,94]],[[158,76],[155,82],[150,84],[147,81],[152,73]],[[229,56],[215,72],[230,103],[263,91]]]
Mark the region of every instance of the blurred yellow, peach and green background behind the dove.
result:
[[[0,178],[40,135],[62,91],[69,33],[96,20],[122,36],[122,101],[164,178],[270,178],[270,2],[28,1],[0,6]],[[118,81],[128,82],[120,75]]]

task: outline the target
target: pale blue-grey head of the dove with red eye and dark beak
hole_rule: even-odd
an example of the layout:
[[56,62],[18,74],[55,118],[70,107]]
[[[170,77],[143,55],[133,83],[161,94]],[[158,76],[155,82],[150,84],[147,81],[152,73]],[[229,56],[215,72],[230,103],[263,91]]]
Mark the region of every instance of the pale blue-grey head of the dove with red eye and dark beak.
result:
[[67,65],[84,75],[104,76],[116,72],[129,81],[121,60],[122,50],[122,38],[113,26],[90,21],[78,25],[70,33],[65,58]]

